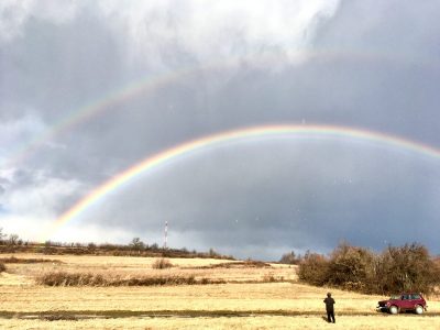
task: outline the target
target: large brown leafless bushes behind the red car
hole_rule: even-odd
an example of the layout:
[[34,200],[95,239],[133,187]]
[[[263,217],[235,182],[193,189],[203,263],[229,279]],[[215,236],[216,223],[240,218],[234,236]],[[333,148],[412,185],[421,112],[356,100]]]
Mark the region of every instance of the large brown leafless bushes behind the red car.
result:
[[305,283],[365,294],[430,295],[440,285],[440,260],[418,243],[389,245],[381,253],[341,243],[329,255],[307,252],[298,264]]

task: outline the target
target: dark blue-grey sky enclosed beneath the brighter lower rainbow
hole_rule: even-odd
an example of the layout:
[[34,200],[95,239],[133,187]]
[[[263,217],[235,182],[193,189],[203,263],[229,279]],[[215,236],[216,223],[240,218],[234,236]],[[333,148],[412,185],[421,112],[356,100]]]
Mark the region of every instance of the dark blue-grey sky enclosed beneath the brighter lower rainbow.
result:
[[196,240],[227,252],[234,246],[242,257],[251,255],[244,251],[274,257],[262,246],[326,251],[345,239],[373,249],[406,240],[436,246],[427,237],[436,226],[428,211],[436,198],[418,196],[438,197],[432,189],[440,173],[395,150],[364,148],[353,157],[358,147],[293,141],[195,155],[109,197],[81,223],[98,217],[108,227],[141,230],[148,242],[161,242],[167,220],[170,238],[178,233],[182,245]]

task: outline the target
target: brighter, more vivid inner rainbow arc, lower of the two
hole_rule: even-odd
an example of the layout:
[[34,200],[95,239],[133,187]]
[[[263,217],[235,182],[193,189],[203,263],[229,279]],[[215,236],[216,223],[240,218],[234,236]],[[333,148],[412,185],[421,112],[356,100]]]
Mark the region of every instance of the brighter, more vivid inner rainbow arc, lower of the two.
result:
[[422,156],[433,157],[440,160],[440,150],[406,140],[395,135],[388,135],[380,132],[373,132],[362,129],[353,129],[345,127],[336,125],[305,125],[305,124],[274,124],[274,125],[262,125],[238,129],[227,132],[220,132],[217,134],[196,139],[174,147],[162,151],[155,155],[147,156],[138,164],[122,170],[118,175],[113,176],[102,185],[90,191],[67,211],[59,216],[52,224],[51,234],[57,229],[85,212],[90,206],[101,200],[109,193],[118,189],[122,185],[128,184],[142,173],[152,170],[153,168],[160,167],[169,163],[172,160],[179,158],[189,153],[197,151],[211,148],[224,143],[231,142],[243,142],[253,139],[271,139],[271,138],[283,138],[283,139],[298,139],[298,138],[320,138],[320,139],[339,139],[349,141],[364,141],[376,143],[381,146],[388,146],[407,152],[413,152]]

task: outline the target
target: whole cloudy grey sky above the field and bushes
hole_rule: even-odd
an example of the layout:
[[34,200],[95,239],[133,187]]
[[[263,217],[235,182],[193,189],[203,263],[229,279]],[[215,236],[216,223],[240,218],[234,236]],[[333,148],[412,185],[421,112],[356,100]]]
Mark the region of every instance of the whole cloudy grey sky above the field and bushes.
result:
[[[167,221],[168,246],[237,257],[341,241],[438,254],[439,11],[431,0],[3,0],[0,228],[162,245]],[[207,143],[59,220],[140,162],[270,125],[339,134]]]

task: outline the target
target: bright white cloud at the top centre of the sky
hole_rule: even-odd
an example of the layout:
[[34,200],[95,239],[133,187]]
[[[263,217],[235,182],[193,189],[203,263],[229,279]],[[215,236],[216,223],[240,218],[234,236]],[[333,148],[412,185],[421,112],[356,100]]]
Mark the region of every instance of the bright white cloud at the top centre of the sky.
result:
[[[172,47],[201,63],[279,53],[297,59],[320,18],[339,1],[100,2],[116,31],[127,31],[131,57],[161,65]],[[279,55],[278,54],[278,55]]]

